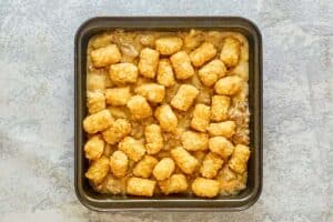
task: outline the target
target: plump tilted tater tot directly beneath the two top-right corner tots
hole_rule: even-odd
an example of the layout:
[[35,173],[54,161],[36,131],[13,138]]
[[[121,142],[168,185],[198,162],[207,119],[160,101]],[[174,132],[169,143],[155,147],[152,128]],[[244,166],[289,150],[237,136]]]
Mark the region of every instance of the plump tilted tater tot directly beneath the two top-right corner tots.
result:
[[204,85],[211,87],[219,80],[219,78],[224,77],[225,72],[226,69],[223,62],[215,59],[203,65],[199,70],[198,75]]

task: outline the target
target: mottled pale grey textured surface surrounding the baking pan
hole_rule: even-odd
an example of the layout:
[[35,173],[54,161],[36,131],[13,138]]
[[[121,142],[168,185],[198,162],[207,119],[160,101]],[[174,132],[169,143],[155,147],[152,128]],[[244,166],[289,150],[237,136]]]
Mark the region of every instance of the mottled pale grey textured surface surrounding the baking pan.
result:
[[[0,221],[333,221],[333,1],[0,1]],[[244,3],[246,2],[246,3]],[[264,186],[236,213],[97,213],[73,189],[73,42],[94,16],[242,16],[264,42]]]

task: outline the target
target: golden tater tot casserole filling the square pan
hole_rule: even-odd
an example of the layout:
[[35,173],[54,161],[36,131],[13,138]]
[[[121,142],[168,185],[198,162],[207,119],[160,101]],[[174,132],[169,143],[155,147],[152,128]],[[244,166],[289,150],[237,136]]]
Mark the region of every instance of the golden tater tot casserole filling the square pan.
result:
[[245,37],[105,32],[90,40],[87,61],[83,150],[97,192],[214,198],[245,189]]

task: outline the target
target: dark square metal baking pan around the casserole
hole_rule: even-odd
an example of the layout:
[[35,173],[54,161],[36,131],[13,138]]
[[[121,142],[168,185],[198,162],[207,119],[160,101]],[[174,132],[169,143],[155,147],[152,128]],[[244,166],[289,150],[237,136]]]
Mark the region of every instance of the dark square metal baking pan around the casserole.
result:
[[[236,31],[249,41],[250,147],[246,189],[234,196],[201,199],[192,195],[115,196],[94,192],[84,178],[87,47],[89,39],[113,29],[179,31],[189,29]],[[98,211],[239,211],[251,206],[262,189],[262,39],[256,26],[239,17],[99,17],[85,21],[75,34],[75,192],[80,202]]]

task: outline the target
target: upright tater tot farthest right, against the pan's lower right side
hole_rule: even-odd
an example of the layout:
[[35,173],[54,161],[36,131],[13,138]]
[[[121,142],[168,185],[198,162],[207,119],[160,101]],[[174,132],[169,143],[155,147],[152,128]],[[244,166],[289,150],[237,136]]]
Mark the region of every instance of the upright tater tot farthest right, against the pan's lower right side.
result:
[[234,148],[233,154],[229,161],[229,167],[238,173],[243,173],[246,170],[249,157],[250,148],[238,144]]

